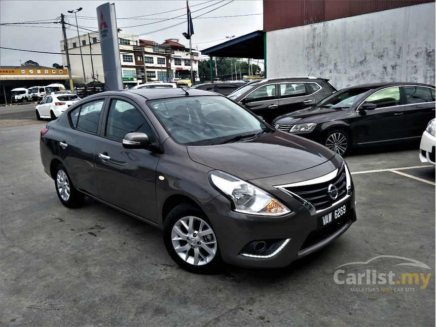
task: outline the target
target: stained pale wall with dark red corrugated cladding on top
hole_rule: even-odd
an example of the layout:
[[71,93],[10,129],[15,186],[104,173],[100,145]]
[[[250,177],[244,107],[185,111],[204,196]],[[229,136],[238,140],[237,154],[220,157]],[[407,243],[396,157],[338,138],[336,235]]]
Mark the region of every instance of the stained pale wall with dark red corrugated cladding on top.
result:
[[434,0],[264,0],[268,78],[435,82]]

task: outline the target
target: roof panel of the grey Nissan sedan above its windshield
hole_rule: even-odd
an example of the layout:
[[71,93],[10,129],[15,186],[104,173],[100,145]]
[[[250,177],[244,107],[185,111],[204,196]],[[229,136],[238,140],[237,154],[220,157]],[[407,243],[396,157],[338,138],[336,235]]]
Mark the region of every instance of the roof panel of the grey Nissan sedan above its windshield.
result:
[[143,96],[144,98],[148,100],[155,100],[155,99],[165,99],[165,98],[179,98],[184,96],[221,96],[220,94],[212,93],[209,91],[203,91],[203,90],[197,90],[197,89],[185,89],[186,92],[188,92],[189,95],[186,94],[184,89],[177,87],[177,88],[157,88],[157,89],[129,89],[129,90],[119,90],[119,91],[107,91],[107,92],[100,92],[97,94],[93,94],[90,96],[87,96],[87,99],[99,97],[102,95],[121,95],[126,96],[128,93],[137,94],[140,96]]

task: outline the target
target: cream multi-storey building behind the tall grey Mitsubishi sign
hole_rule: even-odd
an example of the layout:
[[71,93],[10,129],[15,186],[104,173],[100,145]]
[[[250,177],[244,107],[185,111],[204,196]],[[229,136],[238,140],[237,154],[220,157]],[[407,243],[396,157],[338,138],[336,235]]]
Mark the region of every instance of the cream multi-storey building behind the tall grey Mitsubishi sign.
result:
[[[182,74],[189,75],[191,64],[194,76],[198,77],[198,53],[193,52],[190,58],[189,48],[178,43],[177,39],[165,40],[159,44],[154,41],[141,40],[135,35],[118,34],[121,70],[124,87],[151,81],[173,81]],[[82,76],[85,67],[86,83],[100,81],[104,83],[103,63],[99,33],[90,32],[80,37],[67,39],[71,72],[75,76]],[[66,66],[66,54],[63,41],[60,42],[63,65]],[[92,56],[91,56],[92,54]],[[92,58],[92,60],[91,60]],[[145,64],[145,66],[144,66]],[[147,76],[147,79],[145,78]],[[82,82],[81,81],[81,82]]]

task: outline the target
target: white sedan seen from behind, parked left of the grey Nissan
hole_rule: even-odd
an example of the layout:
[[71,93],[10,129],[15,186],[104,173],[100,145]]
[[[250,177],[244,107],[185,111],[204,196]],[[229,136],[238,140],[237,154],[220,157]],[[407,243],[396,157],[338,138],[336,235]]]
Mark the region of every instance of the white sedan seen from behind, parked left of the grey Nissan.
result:
[[62,114],[67,107],[80,100],[76,94],[55,94],[46,95],[35,107],[35,116],[38,120],[43,118],[55,119]]

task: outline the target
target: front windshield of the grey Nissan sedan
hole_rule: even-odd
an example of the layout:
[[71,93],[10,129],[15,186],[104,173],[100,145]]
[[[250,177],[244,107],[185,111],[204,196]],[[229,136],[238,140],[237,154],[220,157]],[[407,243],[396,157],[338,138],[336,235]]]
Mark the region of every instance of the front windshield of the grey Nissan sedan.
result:
[[222,96],[196,96],[148,101],[152,112],[176,142],[204,146],[254,137],[267,127]]

